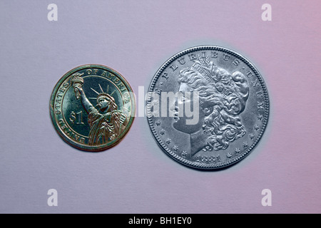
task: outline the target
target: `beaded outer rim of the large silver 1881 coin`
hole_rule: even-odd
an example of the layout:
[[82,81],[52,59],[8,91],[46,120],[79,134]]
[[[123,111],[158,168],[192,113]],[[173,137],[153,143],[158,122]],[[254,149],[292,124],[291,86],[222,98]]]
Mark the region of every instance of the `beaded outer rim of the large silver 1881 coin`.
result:
[[[240,55],[239,53],[236,53],[235,51],[232,51],[228,48],[223,48],[220,46],[195,46],[192,48],[188,48],[185,49],[184,51],[180,51],[179,53],[176,53],[174,56],[172,56],[171,58],[168,59],[168,61],[166,61],[163,66],[161,66],[161,68],[158,69],[158,71],[156,72],[155,76],[153,77],[153,80],[151,81],[150,87],[148,89],[148,92],[153,92],[153,88],[156,85],[156,82],[158,81],[158,78],[161,76],[161,73],[163,73],[163,70],[165,68],[167,68],[170,63],[173,63],[173,61],[175,61],[177,58],[180,58],[180,56],[184,56],[187,53],[193,52],[193,51],[204,51],[204,50],[213,50],[213,51],[223,51],[225,53],[229,53],[237,58],[239,58],[241,61],[243,61],[245,64],[247,64],[249,66],[249,68],[253,71],[253,73],[255,73],[255,76],[258,77],[258,80],[260,81],[260,85],[262,86],[262,90],[263,90],[263,94],[264,94],[264,100],[265,100],[265,112],[264,112],[264,118],[263,118],[263,125],[262,128],[260,130],[260,133],[258,134],[258,138],[255,140],[255,142],[253,142],[253,144],[248,148],[248,150],[246,150],[245,152],[243,152],[241,155],[238,155],[237,157],[234,157],[231,160],[228,160],[227,162],[223,162],[218,164],[203,164],[200,162],[192,162],[190,160],[186,160],[183,157],[178,156],[177,154],[175,154],[173,151],[171,151],[162,141],[161,138],[159,137],[158,133],[156,133],[155,127],[154,127],[154,123],[153,123],[153,118],[148,117],[148,124],[151,128],[151,132],[153,133],[153,135],[156,138],[156,141],[158,142],[158,145],[160,145],[160,147],[163,149],[163,151],[165,151],[165,153],[167,155],[170,155],[170,157],[173,157],[176,161],[180,162],[183,165],[187,165],[189,167],[193,167],[196,169],[202,169],[202,170],[218,170],[218,169],[222,169],[224,167],[228,167],[230,165],[234,165],[236,162],[239,162],[240,160],[243,160],[244,157],[246,157],[247,155],[250,154],[250,152],[253,151],[253,149],[256,147],[256,145],[258,145],[258,142],[260,141],[260,139],[262,138],[263,133],[265,132],[265,128],[267,126],[267,122],[268,122],[268,118],[269,118],[269,113],[270,113],[270,99],[267,93],[267,88],[265,85],[265,81],[263,80],[263,77],[260,75],[260,73],[258,72],[258,70],[255,68],[255,66],[253,66],[252,63],[250,63],[250,61],[248,61],[247,58],[245,58],[244,56]],[[150,95],[148,95],[148,99],[146,101],[146,106],[147,106],[147,112],[148,112],[148,100],[150,100]],[[149,114],[149,115],[148,115]],[[147,116],[151,116],[151,113],[147,113]]]

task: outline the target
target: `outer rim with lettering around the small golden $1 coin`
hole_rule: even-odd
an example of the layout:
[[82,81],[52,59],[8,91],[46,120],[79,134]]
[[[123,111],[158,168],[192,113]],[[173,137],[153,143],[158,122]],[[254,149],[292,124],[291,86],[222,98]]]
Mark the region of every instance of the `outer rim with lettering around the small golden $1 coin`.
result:
[[81,145],[81,144],[78,144],[78,143],[74,142],[73,140],[70,140],[68,137],[66,137],[65,134],[63,134],[61,129],[58,127],[58,124],[56,123],[56,118],[55,118],[55,113],[54,113],[54,102],[55,102],[56,93],[58,91],[58,88],[66,80],[66,78],[71,76],[71,74],[75,73],[76,71],[81,71],[81,70],[86,69],[86,68],[100,68],[100,69],[103,69],[103,70],[106,70],[106,71],[109,71],[109,72],[115,74],[116,76],[118,76],[118,78],[121,79],[121,81],[124,83],[126,88],[128,88],[128,91],[133,94],[133,89],[131,88],[131,86],[128,83],[128,81],[126,80],[126,78],[124,78],[121,75],[121,73],[119,73],[118,71],[115,71],[113,68],[110,68],[108,66],[104,66],[104,65],[101,65],[101,64],[85,64],[85,65],[77,66],[77,67],[71,69],[70,71],[68,71],[67,73],[65,73],[59,79],[59,81],[56,83],[56,85],[54,86],[54,89],[53,89],[53,91],[51,93],[51,99],[50,99],[50,105],[49,105],[50,115],[51,115],[51,123],[54,125],[54,128],[56,129],[56,132],[58,133],[58,135],[65,142],[67,142],[68,145],[71,145],[71,146],[73,146],[73,147],[75,147],[75,148],[77,148],[79,150],[83,150],[83,151],[87,151],[87,152],[101,152],[103,150],[107,150],[107,149],[109,149],[111,147],[114,147],[119,142],[121,142],[121,140],[123,140],[123,138],[125,138],[125,136],[129,132],[129,130],[131,129],[131,125],[133,125],[133,121],[135,119],[136,100],[135,100],[135,96],[131,95],[131,103],[132,103],[131,118],[129,119],[128,125],[126,126],[125,130],[123,130],[123,133],[122,133],[121,137],[117,138],[114,142],[106,143],[106,144],[103,144],[103,145],[88,146],[88,145]]

